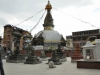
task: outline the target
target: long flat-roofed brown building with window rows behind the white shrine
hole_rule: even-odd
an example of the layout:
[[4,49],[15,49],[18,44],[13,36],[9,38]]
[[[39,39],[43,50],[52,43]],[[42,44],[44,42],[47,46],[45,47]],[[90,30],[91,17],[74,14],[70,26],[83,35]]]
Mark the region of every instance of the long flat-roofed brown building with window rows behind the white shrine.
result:
[[72,32],[73,46],[75,46],[76,42],[79,42],[82,47],[90,36],[96,36],[97,39],[100,39],[100,29]]

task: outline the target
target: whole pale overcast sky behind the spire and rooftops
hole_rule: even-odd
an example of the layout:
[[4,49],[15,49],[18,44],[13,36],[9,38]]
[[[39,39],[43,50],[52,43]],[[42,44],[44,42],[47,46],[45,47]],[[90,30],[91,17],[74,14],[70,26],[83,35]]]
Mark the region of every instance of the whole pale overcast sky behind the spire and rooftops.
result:
[[[0,0],[0,35],[3,33],[4,25],[17,25],[44,9],[47,2],[48,0]],[[53,7],[51,13],[54,30],[64,37],[72,35],[72,32],[100,28],[100,0],[50,0],[50,3]],[[44,11],[40,12],[17,27],[30,31],[43,13]],[[43,30],[45,15],[32,31],[33,36]]]

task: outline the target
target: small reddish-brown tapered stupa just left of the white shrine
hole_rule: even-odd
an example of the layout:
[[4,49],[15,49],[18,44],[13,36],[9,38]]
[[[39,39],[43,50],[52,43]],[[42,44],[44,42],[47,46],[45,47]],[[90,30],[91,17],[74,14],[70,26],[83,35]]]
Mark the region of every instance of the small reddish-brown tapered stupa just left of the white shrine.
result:
[[83,59],[83,56],[82,56],[82,54],[80,52],[79,44],[76,43],[74,53],[73,53],[73,55],[71,57],[71,62],[76,62],[79,59]]

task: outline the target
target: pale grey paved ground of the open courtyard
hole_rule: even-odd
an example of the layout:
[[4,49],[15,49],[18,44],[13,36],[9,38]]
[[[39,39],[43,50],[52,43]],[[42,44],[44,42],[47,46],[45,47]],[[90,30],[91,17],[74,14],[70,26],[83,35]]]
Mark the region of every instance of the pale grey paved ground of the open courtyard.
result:
[[100,69],[77,69],[76,63],[71,63],[70,58],[56,68],[49,68],[47,61],[40,64],[7,63],[3,60],[5,75],[100,75]]

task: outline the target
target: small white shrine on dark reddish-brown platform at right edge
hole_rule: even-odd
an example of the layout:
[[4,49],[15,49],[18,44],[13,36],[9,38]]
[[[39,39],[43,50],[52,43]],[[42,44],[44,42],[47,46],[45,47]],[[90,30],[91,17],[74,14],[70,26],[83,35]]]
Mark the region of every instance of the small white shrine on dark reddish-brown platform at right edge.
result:
[[87,41],[83,46],[83,59],[77,61],[77,68],[100,69],[100,39],[95,39],[95,45]]

